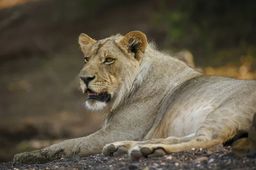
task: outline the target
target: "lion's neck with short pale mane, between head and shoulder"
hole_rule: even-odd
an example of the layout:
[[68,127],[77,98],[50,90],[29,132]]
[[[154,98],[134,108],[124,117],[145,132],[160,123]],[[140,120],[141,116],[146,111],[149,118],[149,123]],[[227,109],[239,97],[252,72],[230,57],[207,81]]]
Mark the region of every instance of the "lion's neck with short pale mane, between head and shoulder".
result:
[[111,111],[125,107],[128,103],[154,97],[152,95],[160,101],[176,86],[198,75],[202,73],[149,44],[137,72],[132,73],[122,84],[118,101],[114,102]]

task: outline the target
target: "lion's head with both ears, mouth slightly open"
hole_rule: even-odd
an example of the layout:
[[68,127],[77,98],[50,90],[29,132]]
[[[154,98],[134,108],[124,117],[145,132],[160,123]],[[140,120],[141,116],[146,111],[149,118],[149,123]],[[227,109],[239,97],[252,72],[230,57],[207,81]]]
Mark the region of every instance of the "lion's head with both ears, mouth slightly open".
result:
[[118,104],[132,86],[147,47],[146,36],[134,31],[96,41],[81,34],[79,44],[84,53],[79,78],[88,94],[86,106],[100,110]]

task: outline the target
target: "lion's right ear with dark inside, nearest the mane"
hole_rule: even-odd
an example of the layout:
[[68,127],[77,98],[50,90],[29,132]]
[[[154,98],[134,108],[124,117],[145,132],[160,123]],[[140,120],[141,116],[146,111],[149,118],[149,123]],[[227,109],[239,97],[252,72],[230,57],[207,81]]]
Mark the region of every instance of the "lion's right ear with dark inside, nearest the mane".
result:
[[120,43],[140,61],[147,48],[147,37],[140,31],[133,31],[126,34]]

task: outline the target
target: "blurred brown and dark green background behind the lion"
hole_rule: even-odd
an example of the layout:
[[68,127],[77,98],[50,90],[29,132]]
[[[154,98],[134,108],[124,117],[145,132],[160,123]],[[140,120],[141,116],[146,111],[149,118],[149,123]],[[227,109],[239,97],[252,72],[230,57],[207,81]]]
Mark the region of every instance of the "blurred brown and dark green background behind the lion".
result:
[[211,75],[256,79],[256,1],[0,0],[0,162],[99,129],[78,90],[83,32],[139,30]]

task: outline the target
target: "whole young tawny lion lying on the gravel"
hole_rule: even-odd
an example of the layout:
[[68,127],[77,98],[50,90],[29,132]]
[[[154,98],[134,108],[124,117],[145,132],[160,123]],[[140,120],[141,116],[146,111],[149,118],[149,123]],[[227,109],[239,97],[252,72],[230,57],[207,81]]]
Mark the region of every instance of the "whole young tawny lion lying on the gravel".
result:
[[256,112],[256,81],[204,75],[157,49],[143,32],[94,40],[79,36],[84,53],[80,87],[101,130],[41,150],[15,163],[47,162],[102,152],[152,158],[223,144],[249,131]]

